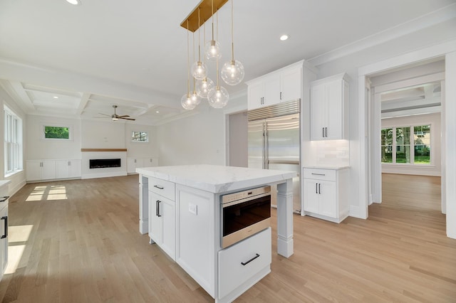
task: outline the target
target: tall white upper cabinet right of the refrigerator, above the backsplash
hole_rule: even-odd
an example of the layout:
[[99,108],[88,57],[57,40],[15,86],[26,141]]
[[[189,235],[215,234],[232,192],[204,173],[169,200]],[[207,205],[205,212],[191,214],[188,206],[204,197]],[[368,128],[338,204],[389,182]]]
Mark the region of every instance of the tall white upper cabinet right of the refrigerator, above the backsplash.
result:
[[342,73],[311,83],[311,140],[348,139],[348,80]]

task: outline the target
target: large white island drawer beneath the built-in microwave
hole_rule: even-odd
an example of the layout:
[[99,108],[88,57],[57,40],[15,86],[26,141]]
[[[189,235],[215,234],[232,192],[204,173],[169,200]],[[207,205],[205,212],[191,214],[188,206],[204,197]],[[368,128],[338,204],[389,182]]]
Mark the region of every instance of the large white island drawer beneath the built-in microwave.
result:
[[271,228],[220,250],[218,259],[221,298],[271,265]]

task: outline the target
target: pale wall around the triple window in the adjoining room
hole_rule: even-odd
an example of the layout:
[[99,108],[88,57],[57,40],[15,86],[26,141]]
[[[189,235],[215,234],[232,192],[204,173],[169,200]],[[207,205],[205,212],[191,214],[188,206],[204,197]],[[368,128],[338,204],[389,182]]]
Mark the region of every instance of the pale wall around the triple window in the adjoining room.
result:
[[431,164],[430,165],[392,165],[382,164],[382,172],[390,174],[415,174],[425,176],[440,176],[441,159],[440,159],[440,112],[428,115],[416,115],[409,117],[396,117],[382,119],[382,128],[384,127],[400,127],[410,125],[427,125],[430,124],[431,138]]

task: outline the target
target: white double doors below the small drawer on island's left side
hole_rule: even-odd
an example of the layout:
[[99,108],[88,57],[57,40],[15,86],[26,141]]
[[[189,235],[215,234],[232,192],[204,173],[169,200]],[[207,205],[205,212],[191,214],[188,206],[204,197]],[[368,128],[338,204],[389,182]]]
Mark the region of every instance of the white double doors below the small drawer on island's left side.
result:
[[149,237],[176,260],[175,201],[149,191]]

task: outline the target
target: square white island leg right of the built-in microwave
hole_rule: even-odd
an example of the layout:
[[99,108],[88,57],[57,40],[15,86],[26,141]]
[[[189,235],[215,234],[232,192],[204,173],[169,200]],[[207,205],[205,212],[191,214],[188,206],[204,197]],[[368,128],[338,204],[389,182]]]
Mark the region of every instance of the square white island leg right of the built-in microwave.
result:
[[277,186],[277,253],[293,255],[293,181]]

